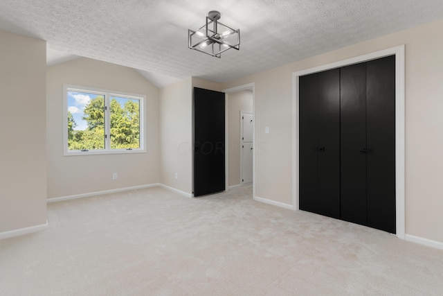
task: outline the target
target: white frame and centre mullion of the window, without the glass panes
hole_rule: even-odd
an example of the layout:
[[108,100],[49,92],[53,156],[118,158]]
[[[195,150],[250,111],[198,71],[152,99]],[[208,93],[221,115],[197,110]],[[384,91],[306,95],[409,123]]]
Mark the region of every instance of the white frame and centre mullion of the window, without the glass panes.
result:
[[[105,97],[105,149],[96,150],[68,150],[68,92],[88,92],[91,94],[100,94]],[[110,97],[118,96],[120,98],[131,98],[136,99],[140,102],[140,148],[136,149],[111,149],[111,133],[110,128]],[[126,153],[146,153],[146,143],[145,143],[145,101],[146,96],[143,94],[131,94],[128,92],[118,92],[109,89],[98,89],[95,87],[84,87],[80,85],[69,85],[63,84],[63,155],[64,156],[74,156],[74,155],[102,155],[102,154],[126,154]]]

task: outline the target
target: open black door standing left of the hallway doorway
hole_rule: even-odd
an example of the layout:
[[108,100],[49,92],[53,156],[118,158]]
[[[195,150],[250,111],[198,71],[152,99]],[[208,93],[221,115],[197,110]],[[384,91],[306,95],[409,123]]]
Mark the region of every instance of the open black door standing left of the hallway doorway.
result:
[[194,196],[225,190],[224,97],[194,88]]

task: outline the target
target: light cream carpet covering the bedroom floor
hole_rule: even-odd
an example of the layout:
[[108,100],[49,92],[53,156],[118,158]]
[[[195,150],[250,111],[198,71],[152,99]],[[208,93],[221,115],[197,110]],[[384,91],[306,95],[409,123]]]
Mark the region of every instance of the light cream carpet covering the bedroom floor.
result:
[[443,251],[255,202],[162,188],[48,204],[0,241],[1,295],[443,295]]

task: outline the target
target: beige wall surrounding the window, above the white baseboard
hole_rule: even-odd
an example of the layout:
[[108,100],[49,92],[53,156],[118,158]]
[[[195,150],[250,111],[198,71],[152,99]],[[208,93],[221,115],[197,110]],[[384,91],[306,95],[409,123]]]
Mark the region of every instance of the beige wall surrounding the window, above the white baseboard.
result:
[[[144,94],[147,153],[63,156],[64,83]],[[46,123],[48,198],[159,182],[159,89],[134,69],[88,58],[48,67]]]

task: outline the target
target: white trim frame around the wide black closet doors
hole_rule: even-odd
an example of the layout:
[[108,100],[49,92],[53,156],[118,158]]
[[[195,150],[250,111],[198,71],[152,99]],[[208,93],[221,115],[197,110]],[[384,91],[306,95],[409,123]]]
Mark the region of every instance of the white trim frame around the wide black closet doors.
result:
[[293,209],[298,211],[298,78],[310,73],[316,73],[350,64],[395,55],[395,225],[396,235],[405,238],[405,60],[404,45],[390,49],[360,55],[355,58],[325,64],[323,66],[305,69],[292,73],[292,200]]

